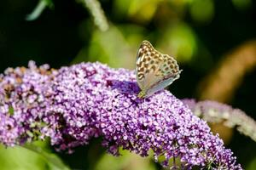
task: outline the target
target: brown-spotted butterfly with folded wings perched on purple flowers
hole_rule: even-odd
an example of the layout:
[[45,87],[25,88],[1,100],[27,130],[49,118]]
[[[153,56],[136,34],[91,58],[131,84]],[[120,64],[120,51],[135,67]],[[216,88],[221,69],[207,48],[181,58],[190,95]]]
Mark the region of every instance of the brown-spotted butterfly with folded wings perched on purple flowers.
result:
[[146,40],[141,43],[137,51],[137,84],[141,92],[137,94],[140,99],[169,86],[179,78],[177,61],[170,55],[161,54]]

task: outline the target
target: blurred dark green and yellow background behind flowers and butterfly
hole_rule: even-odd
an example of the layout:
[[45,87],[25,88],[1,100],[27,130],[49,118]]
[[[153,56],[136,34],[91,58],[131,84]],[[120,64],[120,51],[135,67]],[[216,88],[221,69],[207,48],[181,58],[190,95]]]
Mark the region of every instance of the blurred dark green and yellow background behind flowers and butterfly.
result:
[[[0,5],[1,72],[26,66],[31,59],[54,68],[98,60],[132,70],[144,39],[174,56],[183,69],[169,87],[177,98],[214,99],[256,119],[253,0],[3,0]],[[211,126],[242,167],[256,169],[252,139],[221,124]],[[125,151],[119,158],[108,156],[100,139],[79,147],[73,155],[55,153],[47,141],[38,145],[73,169],[161,169],[152,159]],[[55,167],[29,150],[1,146],[0,169]]]

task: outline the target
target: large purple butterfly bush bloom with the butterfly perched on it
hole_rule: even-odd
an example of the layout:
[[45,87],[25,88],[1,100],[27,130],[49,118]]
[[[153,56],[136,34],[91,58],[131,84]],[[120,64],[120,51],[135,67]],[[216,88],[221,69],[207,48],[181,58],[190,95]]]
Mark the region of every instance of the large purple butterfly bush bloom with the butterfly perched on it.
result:
[[[118,156],[119,148],[141,156],[154,151],[162,165],[241,169],[236,157],[189,107],[162,90],[138,99],[133,71],[100,63],[60,70],[48,65],[8,69],[0,79],[0,142],[24,144],[49,137],[57,150],[70,150],[102,137]],[[172,160],[172,161],[170,161]]]

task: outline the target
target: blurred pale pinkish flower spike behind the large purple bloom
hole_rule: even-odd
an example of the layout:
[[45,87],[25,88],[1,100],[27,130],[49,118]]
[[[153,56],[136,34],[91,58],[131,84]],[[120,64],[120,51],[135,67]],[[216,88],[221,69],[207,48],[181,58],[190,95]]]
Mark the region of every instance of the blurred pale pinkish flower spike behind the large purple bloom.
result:
[[240,133],[256,141],[256,122],[245,112],[211,100],[183,99],[183,103],[207,122],[224,122],[225,126],[236,127]]

